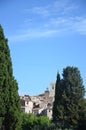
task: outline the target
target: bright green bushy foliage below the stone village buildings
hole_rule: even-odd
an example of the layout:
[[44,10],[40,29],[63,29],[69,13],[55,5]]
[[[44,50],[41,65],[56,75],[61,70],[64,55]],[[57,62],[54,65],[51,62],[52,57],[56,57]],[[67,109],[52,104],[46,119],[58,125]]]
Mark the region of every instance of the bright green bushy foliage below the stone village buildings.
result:
[[22,130],[35,130],[35,129],[42,129],[45,126],[49,126],[51,121],[43,116],[36,117],[33,114],[22,113],[21,114],[22,120]]

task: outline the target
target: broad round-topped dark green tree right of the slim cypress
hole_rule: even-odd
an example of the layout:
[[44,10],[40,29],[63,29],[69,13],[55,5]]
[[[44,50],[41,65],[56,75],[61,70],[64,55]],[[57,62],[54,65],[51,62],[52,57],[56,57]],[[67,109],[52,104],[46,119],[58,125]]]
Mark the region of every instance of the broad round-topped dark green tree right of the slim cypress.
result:
[[66,127],[77,127],[85,89],[80,71],[77,67],[67,67],[63,70],[63,106]]

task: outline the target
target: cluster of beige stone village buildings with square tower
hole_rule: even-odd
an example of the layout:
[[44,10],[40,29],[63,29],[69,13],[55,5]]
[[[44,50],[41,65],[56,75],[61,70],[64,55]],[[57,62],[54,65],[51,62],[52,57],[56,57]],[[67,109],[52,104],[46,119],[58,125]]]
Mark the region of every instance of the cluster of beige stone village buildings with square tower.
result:
[[21,110],[26,113],[33,113],[36,116],[52,118],[52,108],[55,96],[55,83],[50,84],[50,90],[37,96],[20,96]]

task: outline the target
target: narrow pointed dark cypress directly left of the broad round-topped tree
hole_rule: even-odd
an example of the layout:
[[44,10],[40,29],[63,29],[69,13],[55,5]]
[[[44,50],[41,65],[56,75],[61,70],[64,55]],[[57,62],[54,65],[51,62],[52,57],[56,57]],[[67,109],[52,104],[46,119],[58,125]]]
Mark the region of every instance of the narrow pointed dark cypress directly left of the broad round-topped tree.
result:
[[60,79],[60,74],[57,73],[57,80],[55,86],[55,100],[53,104],[53,122],[58,126],[58,128],[64,129],[64,106],[62,94],[62,79]]

